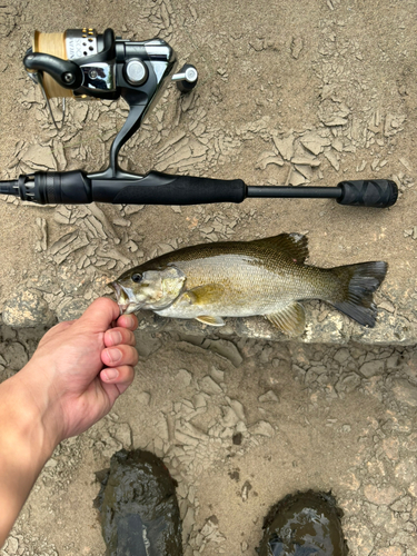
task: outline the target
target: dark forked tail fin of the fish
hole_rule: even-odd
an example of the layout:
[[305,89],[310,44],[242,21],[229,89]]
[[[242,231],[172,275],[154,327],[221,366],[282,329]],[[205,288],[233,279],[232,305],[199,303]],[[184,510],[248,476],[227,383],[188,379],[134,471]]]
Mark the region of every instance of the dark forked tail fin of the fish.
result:
[[332,268],[339,285],[330,304],[360,325],[374,328],[377,308],[373,294],[381,285],[387,269],[388,264],[383,260]]

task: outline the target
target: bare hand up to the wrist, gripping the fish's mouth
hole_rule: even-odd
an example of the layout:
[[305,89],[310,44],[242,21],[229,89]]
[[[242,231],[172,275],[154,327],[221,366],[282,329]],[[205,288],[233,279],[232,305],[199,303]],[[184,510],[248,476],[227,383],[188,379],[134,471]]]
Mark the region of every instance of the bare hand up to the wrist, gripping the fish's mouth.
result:
[[119,316],[115,301],[99,298],[79,319],[51,328],[16,375],[42,415],[52,449],[103,417],[130,386],[137,326],[133,315]]

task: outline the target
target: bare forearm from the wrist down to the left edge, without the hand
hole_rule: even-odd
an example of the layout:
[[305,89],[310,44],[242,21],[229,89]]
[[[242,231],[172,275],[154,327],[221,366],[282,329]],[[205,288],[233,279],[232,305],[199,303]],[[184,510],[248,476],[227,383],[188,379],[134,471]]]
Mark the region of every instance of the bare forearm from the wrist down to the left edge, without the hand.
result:
[[0,385],[0,547],[54,448],[21,378]]

